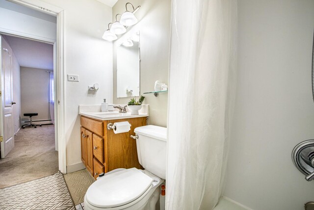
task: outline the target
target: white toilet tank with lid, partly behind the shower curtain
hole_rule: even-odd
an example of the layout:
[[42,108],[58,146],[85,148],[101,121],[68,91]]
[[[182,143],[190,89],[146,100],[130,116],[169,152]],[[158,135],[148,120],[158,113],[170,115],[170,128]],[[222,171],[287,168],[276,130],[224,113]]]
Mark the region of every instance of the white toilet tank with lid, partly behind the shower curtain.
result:
[[167,128],[146,125],[134,129],[139,163],[152,174],[166,179]]

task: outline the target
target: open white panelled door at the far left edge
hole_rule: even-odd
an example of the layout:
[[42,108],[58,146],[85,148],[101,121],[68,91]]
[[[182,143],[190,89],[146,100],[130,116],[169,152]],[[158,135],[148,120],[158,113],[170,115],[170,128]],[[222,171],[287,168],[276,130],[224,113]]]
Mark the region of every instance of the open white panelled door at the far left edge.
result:
[[14,125],[12,109],[12,49],[0,35],[1,47],[1,111],[0,135],[1,158],[5,157],[14,147]]

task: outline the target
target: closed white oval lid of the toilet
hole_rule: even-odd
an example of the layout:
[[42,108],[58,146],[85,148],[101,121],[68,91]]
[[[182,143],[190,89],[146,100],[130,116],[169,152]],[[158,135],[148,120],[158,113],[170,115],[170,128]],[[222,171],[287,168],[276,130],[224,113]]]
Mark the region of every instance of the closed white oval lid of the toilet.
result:
[[128,204],[140,197],[153,179],[136,168],[105,175],[95,181],[86,192],[89,204],[99,208],[111,208]]

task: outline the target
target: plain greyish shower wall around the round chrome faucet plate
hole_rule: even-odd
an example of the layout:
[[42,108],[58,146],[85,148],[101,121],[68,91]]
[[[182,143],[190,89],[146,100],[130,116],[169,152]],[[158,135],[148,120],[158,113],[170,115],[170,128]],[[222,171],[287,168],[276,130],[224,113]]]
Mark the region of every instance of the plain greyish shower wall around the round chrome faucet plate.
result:
[[313,0],[238,0],[238,81],[224,195],[254,210],[304,210],[314,182],[292,149],[314,138]]

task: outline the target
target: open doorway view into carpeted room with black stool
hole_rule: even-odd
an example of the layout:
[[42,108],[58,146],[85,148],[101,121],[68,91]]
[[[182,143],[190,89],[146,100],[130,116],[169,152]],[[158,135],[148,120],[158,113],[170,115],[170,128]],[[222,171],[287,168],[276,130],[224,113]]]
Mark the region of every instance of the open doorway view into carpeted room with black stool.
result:
[[57,173],[58,152],[53,45],[3,34],[0,40],[3,188]]

